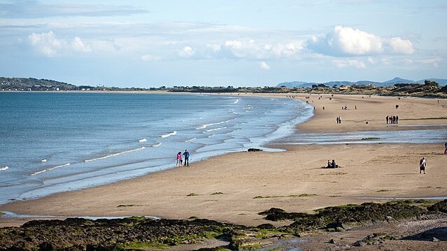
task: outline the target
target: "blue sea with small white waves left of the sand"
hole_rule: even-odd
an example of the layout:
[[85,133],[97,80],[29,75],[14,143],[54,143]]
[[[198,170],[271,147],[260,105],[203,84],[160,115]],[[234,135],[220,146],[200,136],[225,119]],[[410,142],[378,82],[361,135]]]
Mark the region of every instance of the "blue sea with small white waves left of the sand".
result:
[[0,203],[262,148],[308,120],[293,99],[0,92]]

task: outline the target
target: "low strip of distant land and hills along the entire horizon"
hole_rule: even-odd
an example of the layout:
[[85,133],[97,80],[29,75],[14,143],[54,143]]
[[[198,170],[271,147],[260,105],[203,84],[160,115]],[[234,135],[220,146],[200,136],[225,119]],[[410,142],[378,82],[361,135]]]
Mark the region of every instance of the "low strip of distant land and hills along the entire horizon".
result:
[[328,83],[288,82],[264,87],[206,87],[206,86],[173,86],[173,87],[107,87],[90,85],[71,85],[55,80],[36,78],[3,78],[0,77],[0,91],[8,92],[57,92],[57,91],[101,91],[101,92],[209,92],[209,93],[328,93],[328,94],[362,94],[382,96],[421,96],[447,98],[447,80],[430,78],[425,80],[405,80],[394,78],[382,83],[372,81],[332,81]]

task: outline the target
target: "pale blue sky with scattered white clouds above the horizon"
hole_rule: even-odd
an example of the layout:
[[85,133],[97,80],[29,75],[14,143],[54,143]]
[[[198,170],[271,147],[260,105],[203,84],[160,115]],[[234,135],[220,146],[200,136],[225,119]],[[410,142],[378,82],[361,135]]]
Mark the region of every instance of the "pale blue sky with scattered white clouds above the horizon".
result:
[[0,76],[108,87],[447,78],[446,0],[0,0]]

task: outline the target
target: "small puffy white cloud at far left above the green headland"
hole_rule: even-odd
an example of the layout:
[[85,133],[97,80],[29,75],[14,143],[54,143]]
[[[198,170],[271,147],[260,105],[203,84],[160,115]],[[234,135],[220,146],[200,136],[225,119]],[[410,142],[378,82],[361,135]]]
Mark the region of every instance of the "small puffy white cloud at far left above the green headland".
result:
[[28,36],[28,41],[37,52],[46,57],[59,57],[71,52],[91,52],[90,45],[86,45],[78,36],[73,41],[57,38],[52,31],[47,33],[33,33]]

